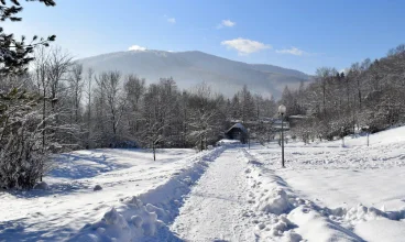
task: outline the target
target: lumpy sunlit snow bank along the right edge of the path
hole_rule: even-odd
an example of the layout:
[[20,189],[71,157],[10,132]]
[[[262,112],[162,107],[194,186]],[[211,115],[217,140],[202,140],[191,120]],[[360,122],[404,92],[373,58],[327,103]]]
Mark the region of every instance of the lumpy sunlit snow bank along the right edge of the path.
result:
[[249,197],[255,209],[255,215],[251,216],[255,218],[255,234],[264,241],[273,241],[274,238],[289,242],[300,241],[302,237],[294,231],[296,224],[287,218],[288,212],[295,208],[296,200],[289,195],[286,183],[247,150],[242,150],[242,153],[248,164],[244,173],[251,187]]

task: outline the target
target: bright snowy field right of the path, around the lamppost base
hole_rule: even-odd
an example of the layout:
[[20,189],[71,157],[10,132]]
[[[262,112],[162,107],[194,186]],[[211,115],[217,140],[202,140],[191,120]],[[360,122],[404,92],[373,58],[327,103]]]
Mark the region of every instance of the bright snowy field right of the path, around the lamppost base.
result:
[[365,135],[344,140],[344,147],[341,141],[289,142],[285,145],[287,168],[281,168],[277,144],[255,145],[250,153],[287,193],[295,207],[286,212],[287,218],[304,239],[403,240],[405,128],[370,135],[370,146]]

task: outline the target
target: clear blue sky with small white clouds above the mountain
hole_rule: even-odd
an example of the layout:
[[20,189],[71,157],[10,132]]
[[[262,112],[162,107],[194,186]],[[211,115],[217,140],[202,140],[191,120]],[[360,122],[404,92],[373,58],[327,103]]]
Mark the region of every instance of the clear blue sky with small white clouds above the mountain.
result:
[[405,43],[405,1],[56,0],[24,3],[19,35],[56,34],[76,57],[128,51],[201,51],[314,74],[384,56]]

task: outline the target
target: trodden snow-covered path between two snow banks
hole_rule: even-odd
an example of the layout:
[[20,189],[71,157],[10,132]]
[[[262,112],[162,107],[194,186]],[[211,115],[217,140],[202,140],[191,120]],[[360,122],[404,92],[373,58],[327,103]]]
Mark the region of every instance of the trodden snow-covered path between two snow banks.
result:
[[255,241],[242,215],[251,206],[239,148],[228,148],[210,165],[180,208],[172,230],[187,241]]

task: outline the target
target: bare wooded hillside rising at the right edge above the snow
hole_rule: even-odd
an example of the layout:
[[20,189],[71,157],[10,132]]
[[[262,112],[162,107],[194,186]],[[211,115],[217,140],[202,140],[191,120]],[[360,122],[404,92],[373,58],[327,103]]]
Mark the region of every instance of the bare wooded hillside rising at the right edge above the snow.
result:
[[286,88],[281,102],[288,114],[306,116],[294,130],[304,141],[404,123],[405,45],[374,62],[354,63],[342,73],[319,68],[314,82],[295,91]]

